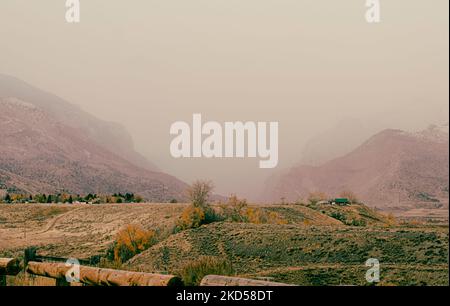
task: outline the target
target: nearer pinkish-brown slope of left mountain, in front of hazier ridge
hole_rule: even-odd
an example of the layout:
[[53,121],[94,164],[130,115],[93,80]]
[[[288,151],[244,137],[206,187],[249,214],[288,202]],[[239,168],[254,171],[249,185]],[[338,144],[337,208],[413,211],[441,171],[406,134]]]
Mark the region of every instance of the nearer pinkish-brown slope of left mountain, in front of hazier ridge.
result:
[[0,99],[0,186],[28,193],[134,192],[154,201],[181,199],[186,187],[18,99]]

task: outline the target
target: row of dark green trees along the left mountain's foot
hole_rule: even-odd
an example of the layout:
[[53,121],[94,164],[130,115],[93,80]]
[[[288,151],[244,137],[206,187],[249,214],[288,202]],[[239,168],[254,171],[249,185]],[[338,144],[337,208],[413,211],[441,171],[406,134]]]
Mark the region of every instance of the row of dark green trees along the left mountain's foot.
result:
[[16,194],[6,193],[3,198],[0,198],[0,203],[141,203],[144,199],[135,195],[134,193],[115,193],[113,195],[73,195],[68,193],[58,194]]

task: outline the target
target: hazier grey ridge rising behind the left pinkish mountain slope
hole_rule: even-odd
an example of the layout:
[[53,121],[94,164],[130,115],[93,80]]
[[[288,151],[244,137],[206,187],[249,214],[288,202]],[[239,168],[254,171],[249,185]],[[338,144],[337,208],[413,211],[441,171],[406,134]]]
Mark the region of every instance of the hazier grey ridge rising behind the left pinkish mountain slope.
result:
[[0,98],[17,98],[37,106],[51,114],[54,120],[81,129],[91,141],[114,151],[135,165],[148,170],[158,170],[134,150],[131,136],[120,124],[99,120],[76,105],[3,74],[0,74]]

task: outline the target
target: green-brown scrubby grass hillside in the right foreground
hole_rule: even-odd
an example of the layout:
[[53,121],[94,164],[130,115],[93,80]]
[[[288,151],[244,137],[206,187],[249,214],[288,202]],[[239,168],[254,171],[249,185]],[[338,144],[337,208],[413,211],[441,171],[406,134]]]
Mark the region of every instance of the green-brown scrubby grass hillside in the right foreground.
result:
[[[385,282],[444,284],[447,251],[446,232],[223,222],[173,235],[126,267],[177,273],[186,262],[206,255],[229,259],[238,275],[336,285],[361,284],[365,261],[377,258],[386,269]],[[405,278],[409,269],[410,279]]]

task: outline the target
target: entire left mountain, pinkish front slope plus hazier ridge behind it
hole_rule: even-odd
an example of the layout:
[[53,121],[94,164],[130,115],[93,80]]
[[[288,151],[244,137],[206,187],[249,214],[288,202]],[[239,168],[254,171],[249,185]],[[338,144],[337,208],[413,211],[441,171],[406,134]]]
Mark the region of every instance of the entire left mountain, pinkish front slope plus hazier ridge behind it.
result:
[[0,75],[0,189],[134,192],[162,201],[182,199],[185,188],[134,151],[120,125]]

